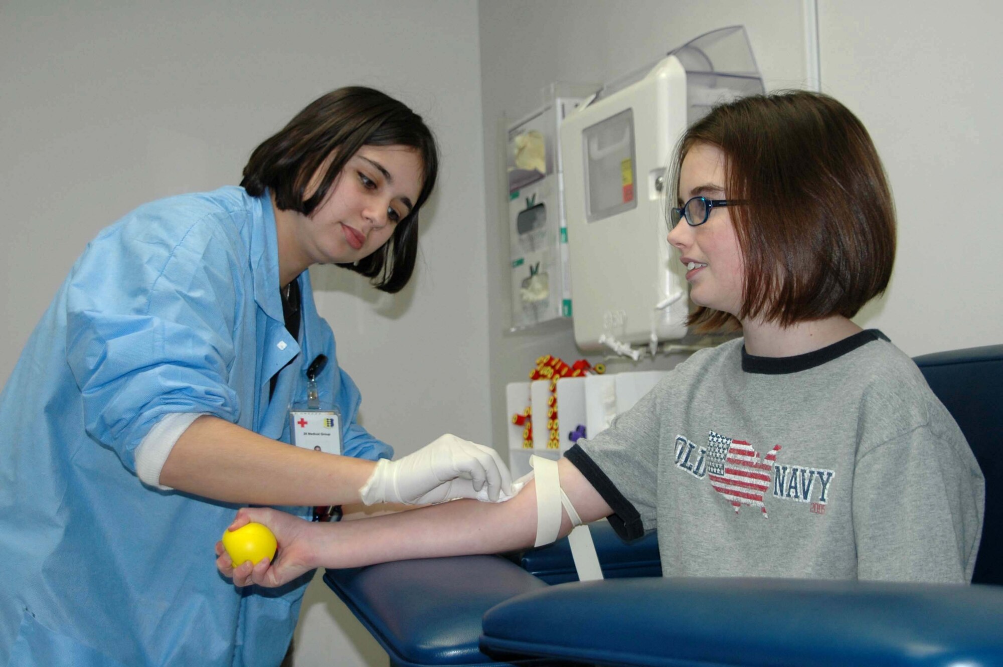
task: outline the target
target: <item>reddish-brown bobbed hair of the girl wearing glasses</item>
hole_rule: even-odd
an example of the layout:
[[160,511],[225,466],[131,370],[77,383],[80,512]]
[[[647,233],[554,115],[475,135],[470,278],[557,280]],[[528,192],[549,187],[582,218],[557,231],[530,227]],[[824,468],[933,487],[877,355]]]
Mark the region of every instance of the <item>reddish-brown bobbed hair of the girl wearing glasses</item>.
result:
[[[795,90],[715,107],[679,140],[668,206],[681,206],[680,168],[699,143],[724,153],[725,196],[746,202],[727,209],[745,261],[739,318],[790,326],[853,317],[885,291],[895,205],[874,142],[846,106]],[[700,332],[740,328],[705,307],[687,323]]]

